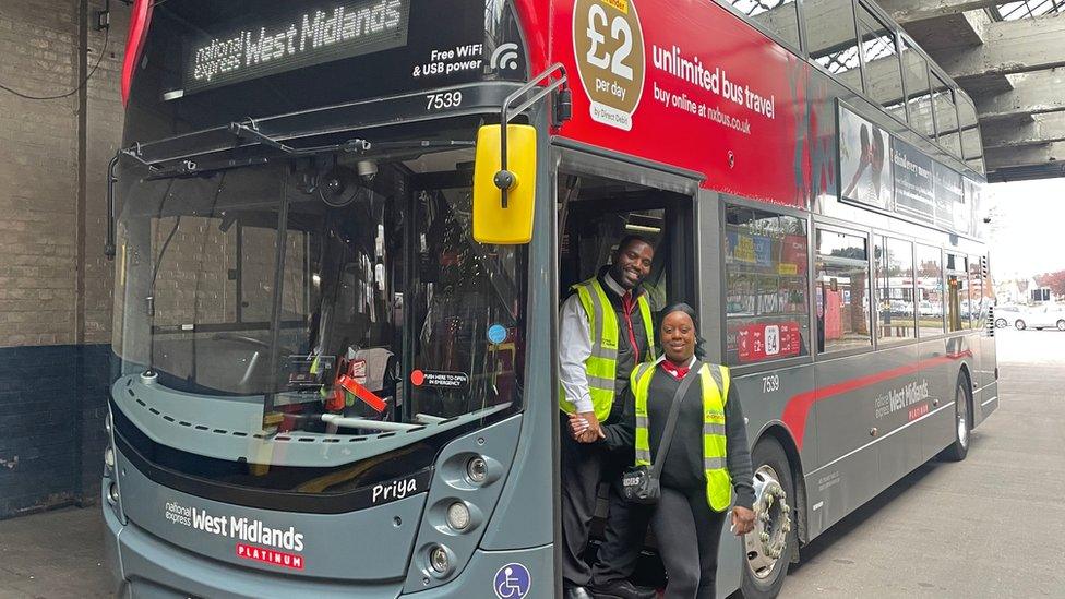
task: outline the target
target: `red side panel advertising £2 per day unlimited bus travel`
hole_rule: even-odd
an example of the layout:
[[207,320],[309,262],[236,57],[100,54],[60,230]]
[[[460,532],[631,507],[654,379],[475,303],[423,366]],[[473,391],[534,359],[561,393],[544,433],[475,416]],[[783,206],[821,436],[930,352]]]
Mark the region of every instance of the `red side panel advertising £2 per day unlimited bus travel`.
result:
[[704,187],[806,206],[805,64],[706,0],[525,0],[550,15],[573,119],[558,134],[705,175]]

